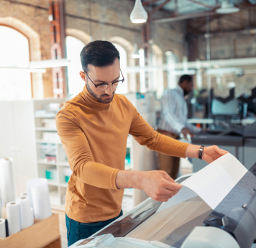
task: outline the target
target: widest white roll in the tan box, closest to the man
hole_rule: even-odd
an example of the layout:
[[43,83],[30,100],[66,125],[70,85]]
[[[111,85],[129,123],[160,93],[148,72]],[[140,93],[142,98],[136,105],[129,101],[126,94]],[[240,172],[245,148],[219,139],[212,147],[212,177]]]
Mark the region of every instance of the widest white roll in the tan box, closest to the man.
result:
[[27,193],[32,199],[35,219],[46,219],[52,216],[47,179],[34,178],[27,181]]

